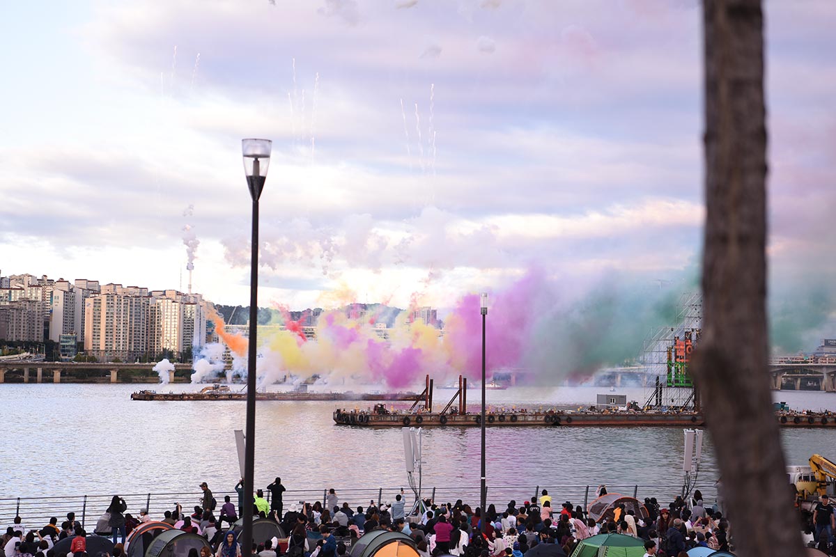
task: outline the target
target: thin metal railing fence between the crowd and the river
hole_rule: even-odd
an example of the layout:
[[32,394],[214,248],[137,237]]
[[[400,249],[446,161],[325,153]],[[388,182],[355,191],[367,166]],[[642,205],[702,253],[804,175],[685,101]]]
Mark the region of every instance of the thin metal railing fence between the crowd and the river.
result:
[[[563,501],[571,501],[575,505],[582,505],[584,509],[590,501],[595,498],[597,485],[510,485],[510,486],[488,486],[487,502],[495,504],[497,509],[505,509],[508,501],[514,500],[517,506],[524,501],[537,499],[543,489],[548,489],[548,494],[553,497],[555,506]],[[706,504],[716,500],[716,489],[712,485],[698,485]],[[629,495],[643,500],[645,497],[655,497],[660,504],[666,504],[681,494],[681,484],[646,484],[646,485],[608,485],[609,493]],[[352,488],[335,489],[340,504],[346,502],[352,509],[358,506],[366,507],[370,501],[380,505],[381,502],[393,501],[395,495],[400,493],[400,488]],[[432,499],[438,504],[455,503],[461,499],[466,504],[476,507],[480,500],[480,488],[456,486],[456,487],[427,487],[422,489],[422,499]],[[313,503],[320,501],[325,503],[328,489],[294,489],[284,493],[284,510],[287,511],[291,504],[298,504],[306,501]],[[193,508],[201,504],[202,492],[168,492],[168,493],[147,493],[147,494],[120,494],[128,505],[127,512],[139,514],[140,509],[148,509],[152,519],[162,519],[166,510],[174,509],[175,504],[181,504],[186,514],[191,514]],[[217,499],[218,509],[224,501],[224,496],[229,495],[232,503],[237,505],[238,495],[234,491],[213,492]],[[265,491],[269,498],[269,492]],[[75,518],[84,529],[92,531],[96,520],[104,513],[110,505],[113,494],[97,495],[71,495],[71,496],[49,496],[49,497],[17,497],[0,498],[0,523],[12,524],[13,518],[19,516],[22,524],[27,529],[40,529],[48,523],[50,517],[57,517],[59,525],[64,521],[67,513],[75,513]],[[409,489],[406,490],[408,502],[414,500]],[[219,512],[219,511],[216,511]]]

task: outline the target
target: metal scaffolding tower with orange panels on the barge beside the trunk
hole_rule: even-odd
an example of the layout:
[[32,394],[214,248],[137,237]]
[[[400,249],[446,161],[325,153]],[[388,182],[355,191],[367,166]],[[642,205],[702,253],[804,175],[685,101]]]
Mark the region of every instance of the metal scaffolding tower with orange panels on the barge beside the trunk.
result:
[[677,308],[672,325],[653,329],[645,337],[640,357],[650,376],[645,407],[699,410],[688,365],[702,333],[702,294],[681,294]]

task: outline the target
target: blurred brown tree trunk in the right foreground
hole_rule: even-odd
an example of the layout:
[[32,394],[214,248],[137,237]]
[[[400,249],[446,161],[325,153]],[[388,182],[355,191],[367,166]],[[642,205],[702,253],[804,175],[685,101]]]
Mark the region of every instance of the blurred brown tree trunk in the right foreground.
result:
[[704,0],[704,18],[703,332],[691,369],[737,555],[802,557],[767,374],[761,0]]

